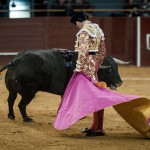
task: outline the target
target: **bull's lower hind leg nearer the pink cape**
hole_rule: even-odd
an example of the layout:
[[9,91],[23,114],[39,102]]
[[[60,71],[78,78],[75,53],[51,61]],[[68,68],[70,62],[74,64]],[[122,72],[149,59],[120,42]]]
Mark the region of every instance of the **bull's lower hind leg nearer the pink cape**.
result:
[[33,119],[28,117],[27,113],[26,113],[26,106],[31,102],[33,97],[22,97],[20,103],[18,104],[18,107],[20,109],[20,113],[22,115],[23,121],[24,122],[32,122]]

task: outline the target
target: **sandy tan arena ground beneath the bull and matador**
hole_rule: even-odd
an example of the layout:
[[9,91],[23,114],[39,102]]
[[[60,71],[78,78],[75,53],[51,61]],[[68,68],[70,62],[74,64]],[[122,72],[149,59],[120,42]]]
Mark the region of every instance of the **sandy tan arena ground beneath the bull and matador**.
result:
[[[124,81],[118,92],[144,96],[150,99],[150,67],[119,66]],[[3,74],[4,76],[4,74]],[[7,118],[8,92],[4,79],[0,80],[0,150],[149,150],[150,140],[144,139],[127,124],[112,108],[105,109],[104,137],[86,137],[80,133],[87,127],[92,115],[78,121],[71,128],[59,131],[53,121],[60,103],[60,96],[39,92],[27,107],[34,119],[32,123],[22,121],[18,102],[15,102],[14,121]]]

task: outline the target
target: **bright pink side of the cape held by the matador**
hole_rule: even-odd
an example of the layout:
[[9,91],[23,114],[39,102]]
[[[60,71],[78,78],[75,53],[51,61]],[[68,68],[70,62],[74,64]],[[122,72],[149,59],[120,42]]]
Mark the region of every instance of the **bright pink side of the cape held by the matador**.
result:
[[136,98],[139,97],[97,87],[85,75],[74,73],[59,106],[54,127],[67,129],[90,113]]

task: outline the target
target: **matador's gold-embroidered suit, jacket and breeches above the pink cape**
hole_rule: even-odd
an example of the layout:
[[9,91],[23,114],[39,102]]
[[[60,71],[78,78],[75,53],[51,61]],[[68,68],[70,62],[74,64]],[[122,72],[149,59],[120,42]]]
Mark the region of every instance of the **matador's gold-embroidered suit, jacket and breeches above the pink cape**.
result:
[[[99,65],[106,55],[104,33],[98,24],[86,21],[76,36],[75,51],[78,52],[78,59],[75,71],[85,73],[96,83]],[[96,55],[90,55],[89,52],[96,52]]]

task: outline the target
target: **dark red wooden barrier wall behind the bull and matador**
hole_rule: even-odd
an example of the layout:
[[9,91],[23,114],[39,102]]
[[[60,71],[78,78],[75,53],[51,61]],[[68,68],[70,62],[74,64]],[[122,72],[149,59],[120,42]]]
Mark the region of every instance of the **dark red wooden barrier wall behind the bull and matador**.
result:
[[[90,20],[98,23],[105,33],[107,55],[136,64],[136,18],[94,17]],[[0,18],[0,52],[74,49],[77,32],[76,26],[70,23],[70,17]],[[149,53],[145,54],[150,58]],[[12,57],[0,56],[0,65]],[[143,64],[150,65],[150,62],[143,61]]]

